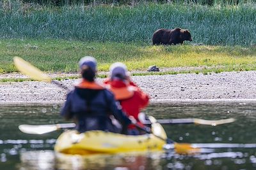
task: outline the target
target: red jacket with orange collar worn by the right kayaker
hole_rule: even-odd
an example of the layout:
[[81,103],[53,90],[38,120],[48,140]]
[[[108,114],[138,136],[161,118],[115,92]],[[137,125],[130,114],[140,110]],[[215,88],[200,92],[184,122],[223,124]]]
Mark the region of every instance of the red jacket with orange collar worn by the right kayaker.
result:
[[[121,80],[106,80],[104,83],[109,85],[109,90],[113,92],[115,99],[120,101],[122,110],[127,113],[127,116],[132,116],[140,122],[138,114],[148,105],[148,95],[131,81],[125,83]],[[134,126],[130,125],[129,128],[134,128]]]

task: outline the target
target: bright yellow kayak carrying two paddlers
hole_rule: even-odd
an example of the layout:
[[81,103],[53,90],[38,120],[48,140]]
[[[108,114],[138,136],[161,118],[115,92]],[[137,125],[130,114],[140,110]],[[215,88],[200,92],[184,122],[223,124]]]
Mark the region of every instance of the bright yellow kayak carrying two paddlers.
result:
[[[149,117],[153,134],[138,136],[116,134],[104,131],[75,130],[63,132],[54,146],[55,152],[66,154],[90,155],[94,153],[123,153],[162,150],[166,144],[166,132],[154,117]],[[159,136],[163,139],[157,138]]]

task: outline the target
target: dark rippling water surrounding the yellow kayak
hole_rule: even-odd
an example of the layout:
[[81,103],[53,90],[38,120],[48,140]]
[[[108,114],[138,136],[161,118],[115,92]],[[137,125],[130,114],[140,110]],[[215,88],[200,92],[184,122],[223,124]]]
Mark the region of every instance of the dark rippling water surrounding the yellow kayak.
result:
[[203,153],[179,155],[173,150],[157,153],[123,153],[92,157],[55,154],[61,131],[31,135],[20,124],[65,122],[61,104],[0,106],[0,169],[256,169],[256,103],[154,104],[145,110],[156,118],[236,118],[232,124],[163,125],[178,143],[204,147]]

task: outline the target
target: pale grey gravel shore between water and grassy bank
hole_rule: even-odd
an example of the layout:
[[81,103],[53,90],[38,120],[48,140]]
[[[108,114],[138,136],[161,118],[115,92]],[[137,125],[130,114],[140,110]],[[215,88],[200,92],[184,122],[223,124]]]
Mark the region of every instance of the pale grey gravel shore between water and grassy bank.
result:
[[[152,102],[256,99],[256,71],[132,76],[132,80],[150,94]],[[60,82],[72,89],[74,81]],[[0,83],[0,94],[0,103],[59,103],[65,101],[67,91],[51,83],[23,81]]]

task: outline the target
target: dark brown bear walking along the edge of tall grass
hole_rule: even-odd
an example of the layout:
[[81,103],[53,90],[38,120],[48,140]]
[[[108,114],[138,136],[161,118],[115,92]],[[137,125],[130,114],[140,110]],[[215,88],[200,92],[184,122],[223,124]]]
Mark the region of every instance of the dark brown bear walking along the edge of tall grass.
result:
[[183,44],[183,41],[192,41],[188,29],[158,29],[153,34],[153,45],[177,45]]

